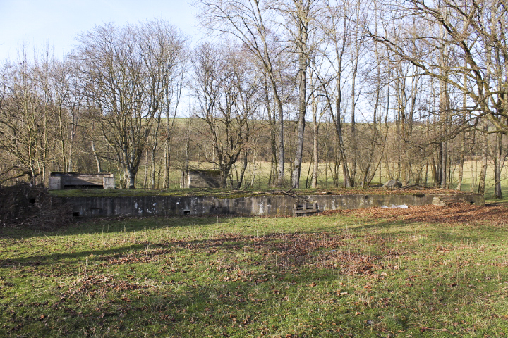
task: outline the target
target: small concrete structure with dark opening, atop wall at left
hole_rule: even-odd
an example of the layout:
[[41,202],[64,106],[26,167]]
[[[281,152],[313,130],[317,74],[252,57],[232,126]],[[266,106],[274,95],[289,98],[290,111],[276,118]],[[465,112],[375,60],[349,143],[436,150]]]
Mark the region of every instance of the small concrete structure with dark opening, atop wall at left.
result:
[[77,173],[54,171],[49,175],[49,190],[114,189],[113,173]]

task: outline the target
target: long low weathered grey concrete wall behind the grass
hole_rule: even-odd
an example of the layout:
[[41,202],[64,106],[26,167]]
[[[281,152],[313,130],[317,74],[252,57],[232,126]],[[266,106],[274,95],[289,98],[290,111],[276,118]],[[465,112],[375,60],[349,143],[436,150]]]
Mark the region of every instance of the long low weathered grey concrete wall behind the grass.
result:
[[[292,215],[293,204],[303,201],[317,202],[318,211],[368,208],[407,204],[432,204],[440,195],[323,195],[323,196],[250,196],[238,199],[214,197],[66,197],[73,206],[75,216],[176,216],[176,215]],[[472,204],[483,205],[479,194],[461,194]]]

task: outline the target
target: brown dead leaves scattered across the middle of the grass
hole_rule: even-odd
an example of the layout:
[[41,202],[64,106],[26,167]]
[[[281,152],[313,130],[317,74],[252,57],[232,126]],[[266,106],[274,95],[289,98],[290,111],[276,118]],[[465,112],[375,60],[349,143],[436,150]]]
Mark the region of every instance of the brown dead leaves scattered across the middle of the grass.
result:
[[[345,275],[373,275],[373,271],[382,268],[380,263],[382,259],[399,258],[410,253],[394,248],[392,239],[375,235],[356,238],[356,235],[347,231],[341,234],[279,233],[263,236],[223,233],[207,240],[186,242],[183,239],[174,239],[167,243],[148,245],[153,249],[107,256],[102,258],[104,263],[99,265],[160,262],[161,273],[171,275],[186,273],[183,265],[177,268],[171,263],[179,255],[184,254],[183,251],[205,251],[209,256],[220,253],[217,261],[212,258],[207,262],[205,271],[213,268],[219,273],[226,273],[224,281],[263,282],[268,278],[253,277],[250,273],[238,269],[238,266],[274,265],[282,270],[298,270],[307,266],[336,269]],[[367,246],[374,247],[377,253],[365,252]],[[239,259],[236,255],[238,251],[251,252],[254,256],[247,255]],[[203,264],[200,261],[187,262],[184,265],[188,265],[188,268],[197,268]]]

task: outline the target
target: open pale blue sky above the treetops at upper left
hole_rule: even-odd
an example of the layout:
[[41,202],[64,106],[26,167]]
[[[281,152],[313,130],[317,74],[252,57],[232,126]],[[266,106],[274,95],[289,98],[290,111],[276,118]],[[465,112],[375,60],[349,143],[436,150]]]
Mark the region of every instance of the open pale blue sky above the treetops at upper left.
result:
[[187,0],[0,0],[0,63],[16,59],[23,49],[44,51],[63,58],[75,46],[75,37],[104,23],[117,26],[154,18],[198,41],[193,8]]

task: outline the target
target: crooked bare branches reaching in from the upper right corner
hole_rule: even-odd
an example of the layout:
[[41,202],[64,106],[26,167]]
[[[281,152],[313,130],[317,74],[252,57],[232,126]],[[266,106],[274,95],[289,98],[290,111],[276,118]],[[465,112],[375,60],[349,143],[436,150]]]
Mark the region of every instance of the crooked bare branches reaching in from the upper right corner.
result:
[[[506,7],[495,0],[406,0],[387,6],[385,13],[395,8],[399,16],[385,18],[383,24],[396,26],[397,36],[375,34],[365,27],[370,37],[439,80],[442,87],[446,84],[466,94],[475,118],[485,116],[498,132],[506,132]],[[442,62],[443,53],[449,62]]]

